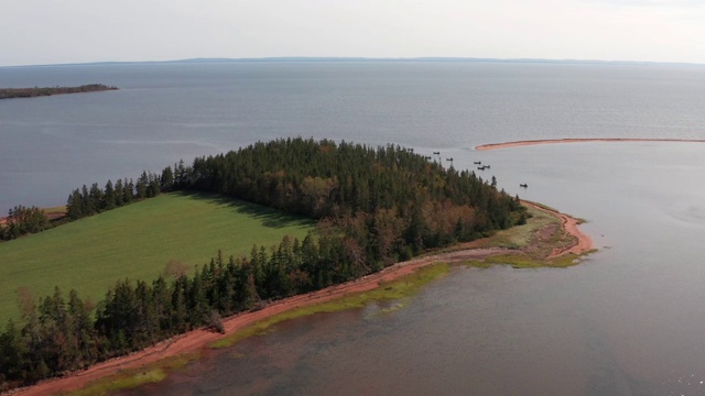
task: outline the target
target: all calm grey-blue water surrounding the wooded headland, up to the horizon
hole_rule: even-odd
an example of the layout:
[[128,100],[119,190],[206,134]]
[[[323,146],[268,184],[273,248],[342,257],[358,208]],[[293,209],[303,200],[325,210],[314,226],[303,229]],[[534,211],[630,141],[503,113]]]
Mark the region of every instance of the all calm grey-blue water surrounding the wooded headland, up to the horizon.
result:
[[[0,86],[123,89],[0,101],[0,202],[62,204],[257,140],[398,143],[491,164],[498,185],[585,218],[566,270],[455,268],[402,309],[317,315],[212,351],[142,395],[705,394],[705,68],[403,63],[0,68]],[[527,183],[528,189],[519,188]],[[58,202],[57,202],[58,200]]]

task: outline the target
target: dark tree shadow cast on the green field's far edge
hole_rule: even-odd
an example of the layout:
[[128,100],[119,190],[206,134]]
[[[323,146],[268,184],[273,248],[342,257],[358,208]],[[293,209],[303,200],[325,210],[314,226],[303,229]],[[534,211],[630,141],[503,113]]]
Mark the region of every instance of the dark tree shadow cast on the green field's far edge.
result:
[[217,205],[224,205],[238,213],[248,215],[262,222],[262,226],[272,229],[282,229],[290,227],[312,227],[316,222],[313,219],[291,215],[281,210],[272,209],[262,205],[248,202],[225,195],[204,193],[204,191],[176,191],[173,193],[182,197],[204,200]]

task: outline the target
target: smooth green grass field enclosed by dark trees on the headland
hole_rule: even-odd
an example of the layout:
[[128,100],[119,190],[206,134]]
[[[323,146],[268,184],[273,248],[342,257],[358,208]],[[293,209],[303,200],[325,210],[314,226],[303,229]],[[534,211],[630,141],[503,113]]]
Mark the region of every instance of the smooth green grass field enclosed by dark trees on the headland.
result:
[[165,194],[42,233],[0,243],[0,329],[19,319],[17,290],[35,298],[61,287],[101,300],[118,279],[151,282],[170,261],[191,272],[224,256],[249,255],[254,244],[303,239],[308,219],[206,194]]

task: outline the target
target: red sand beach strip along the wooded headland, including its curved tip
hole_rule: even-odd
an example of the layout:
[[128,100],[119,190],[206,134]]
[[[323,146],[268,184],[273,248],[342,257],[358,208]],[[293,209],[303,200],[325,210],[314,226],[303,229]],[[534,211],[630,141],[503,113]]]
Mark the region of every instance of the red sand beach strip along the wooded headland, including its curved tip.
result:
[[[531,202],[523,202],[527,206],[538,208],[540,210],[553,213],[562,219],[565,230],[574,235],[577,240],[576,244],[562,251],[553,252],[551,257],[560,256],[567,253],[581,254],[592,249],[592,240],[577,229],[577,220],[552,211]],[[317,302],[324,302],[334,298],[343,297],[347,294],[367,292],[377,288],[380,283],[394,280],[404,275],[409,275],[417,268],[438,262],[456,263],[470,260],[481,260],[491,255],[506,253],[503,249],[465,249],[449,253],[441,253],[427,255],[411,260],[403,263],[394,264],[379,273],[365,276],[360,279],[351,280],[341,285],[330,286],[328,288],[313,292],[305,295],[294,296],[273,302],[265,308],[245,312],[224,320],[225,331],[232,334],[246,327],[262,320],[264,318],[284,312],[286,310],[307,306]],[[113,359],[102,363],[98,363],[85,371],[74,373],[72,375],[46,380],[36,385],[11,391],[12,395],[53,395],[57,393],[77,391],[86,386],[87,383],[99,380],[101,377],[116,374],[121,370],[138,369],[149,363],[158,362],[162,359],[176,356],[184,353],[197,352],[206,348],[209,343],[226,337],[206,330],[194,330],[188,333],[174,337],[170,340],[160,342],[159,344],[145,350],[135,352],[131,355]]]

